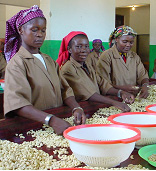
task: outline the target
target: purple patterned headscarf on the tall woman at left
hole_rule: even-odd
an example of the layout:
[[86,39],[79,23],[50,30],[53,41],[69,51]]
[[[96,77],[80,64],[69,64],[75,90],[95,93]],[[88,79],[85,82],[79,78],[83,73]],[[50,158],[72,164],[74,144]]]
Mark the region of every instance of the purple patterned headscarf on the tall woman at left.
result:
[[6,21],[6,34],[4,54],[7,62],[18,52],[21,46],[21,38],[18,33],[18,28],[33,18],[42,17],[42,10],[37,5],[32,6],[30,9],[21,10],[8,21]]

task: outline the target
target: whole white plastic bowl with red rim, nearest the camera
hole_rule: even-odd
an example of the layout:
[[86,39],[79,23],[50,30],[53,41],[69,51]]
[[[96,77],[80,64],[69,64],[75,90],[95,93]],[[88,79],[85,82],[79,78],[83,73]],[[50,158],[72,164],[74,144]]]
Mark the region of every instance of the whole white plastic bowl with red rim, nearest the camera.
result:
[[75,157],[93,167],[115,167],[125,161],[140,139],[136,128],[114,124],[73,126],[64,131]]

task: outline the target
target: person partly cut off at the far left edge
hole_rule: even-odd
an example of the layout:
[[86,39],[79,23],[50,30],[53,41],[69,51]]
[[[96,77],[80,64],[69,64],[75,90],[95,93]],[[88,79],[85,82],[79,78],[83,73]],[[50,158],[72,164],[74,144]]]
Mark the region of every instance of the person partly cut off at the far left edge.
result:
[[5,39],[0,39],[0,79],[4,79],[5,67],[7,65],[4,57],[4,44]]

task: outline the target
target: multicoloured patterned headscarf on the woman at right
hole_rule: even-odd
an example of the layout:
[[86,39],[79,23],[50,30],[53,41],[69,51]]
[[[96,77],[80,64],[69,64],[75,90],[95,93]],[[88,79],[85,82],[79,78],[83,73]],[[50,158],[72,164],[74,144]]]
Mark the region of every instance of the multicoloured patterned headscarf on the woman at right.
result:
[[114,31],[111,33],[111,35],[109,36],[109,47],[112,47],[115,43],[115,39],[119,36],[127,36],[127,35],[131,35],[131,36],[136,36],[137,33],[134,32],[134,30],[129,27],[129,26],[119,26],[117,28],[114,29]]

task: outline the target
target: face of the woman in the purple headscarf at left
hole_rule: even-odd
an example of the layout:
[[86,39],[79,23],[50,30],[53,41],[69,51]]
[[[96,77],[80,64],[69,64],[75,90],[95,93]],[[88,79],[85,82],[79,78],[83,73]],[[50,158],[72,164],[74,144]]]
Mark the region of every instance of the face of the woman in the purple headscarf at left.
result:
[[46,36],[46,20],[34,18],[19,28],[19,33],[24,46],[31,53],[38,53]]

